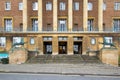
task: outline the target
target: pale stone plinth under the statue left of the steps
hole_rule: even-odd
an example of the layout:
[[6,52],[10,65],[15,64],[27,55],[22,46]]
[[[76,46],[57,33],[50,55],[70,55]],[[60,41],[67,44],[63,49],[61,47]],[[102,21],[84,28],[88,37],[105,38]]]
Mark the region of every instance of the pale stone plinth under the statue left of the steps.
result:
[[28,52],[23,47],[14,47],[9,51],[9,64],[25,63],[28,59]]

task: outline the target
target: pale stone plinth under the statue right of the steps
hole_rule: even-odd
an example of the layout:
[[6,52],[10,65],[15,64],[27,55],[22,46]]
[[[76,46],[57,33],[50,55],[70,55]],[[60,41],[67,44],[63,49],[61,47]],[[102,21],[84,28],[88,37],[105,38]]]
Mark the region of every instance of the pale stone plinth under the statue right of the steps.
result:
[[100,53],[100,59],[105,64],[118,66],[119,62],[119,50],[117,49],[102,49]]

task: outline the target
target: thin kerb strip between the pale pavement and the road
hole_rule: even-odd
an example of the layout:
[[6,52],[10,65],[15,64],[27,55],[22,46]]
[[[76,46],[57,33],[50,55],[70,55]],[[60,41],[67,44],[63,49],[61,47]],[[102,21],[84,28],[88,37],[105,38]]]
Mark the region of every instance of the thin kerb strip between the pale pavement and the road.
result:
[[87,73],[65,73],[65,72],[20,72],[20,71],[0,71],[0,73],[24,73],[24,74],[58,74],[58,75],[79,75],[79,76],[117,76],[120,74],[87,74]]

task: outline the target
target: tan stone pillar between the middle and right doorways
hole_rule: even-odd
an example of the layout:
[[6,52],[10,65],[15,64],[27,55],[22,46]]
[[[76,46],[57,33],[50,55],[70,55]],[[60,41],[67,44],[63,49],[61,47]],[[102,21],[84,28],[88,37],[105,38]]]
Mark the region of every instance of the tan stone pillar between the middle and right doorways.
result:
[[67,53],[68,55],[73,55],[73,37],[68,37],[68,44],[67,44]]

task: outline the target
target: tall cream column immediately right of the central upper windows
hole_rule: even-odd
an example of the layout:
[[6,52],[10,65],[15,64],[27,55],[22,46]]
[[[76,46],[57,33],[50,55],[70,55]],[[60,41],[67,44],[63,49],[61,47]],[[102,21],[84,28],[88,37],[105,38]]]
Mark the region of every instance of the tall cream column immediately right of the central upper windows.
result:
[[68,0],[68,30],[72,31],[73,26],[73,0]]

